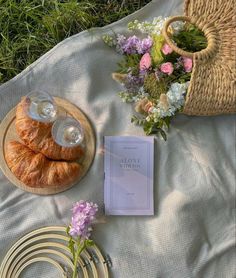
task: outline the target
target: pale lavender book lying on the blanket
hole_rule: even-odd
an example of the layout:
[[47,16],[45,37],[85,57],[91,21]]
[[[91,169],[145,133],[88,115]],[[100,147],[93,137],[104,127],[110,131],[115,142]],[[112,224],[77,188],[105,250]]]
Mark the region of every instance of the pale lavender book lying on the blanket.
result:
[[153,215],[154,137],[104,137],[106,215]]

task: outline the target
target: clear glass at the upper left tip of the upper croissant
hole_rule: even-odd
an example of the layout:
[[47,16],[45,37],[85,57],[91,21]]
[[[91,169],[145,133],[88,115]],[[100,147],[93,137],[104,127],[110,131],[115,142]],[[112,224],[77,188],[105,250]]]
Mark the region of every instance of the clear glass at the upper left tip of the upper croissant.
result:
[[48,93],[34,90],[26,96],[28,116],[39,122],[54,122],[57,117],[57,106]]

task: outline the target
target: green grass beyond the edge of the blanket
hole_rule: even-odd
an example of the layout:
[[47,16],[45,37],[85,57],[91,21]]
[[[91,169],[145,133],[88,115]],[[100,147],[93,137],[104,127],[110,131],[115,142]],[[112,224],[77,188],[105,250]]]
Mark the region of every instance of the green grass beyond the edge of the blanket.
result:
[[0,0],[0,84],[63,39],[114,22],[150,0]]

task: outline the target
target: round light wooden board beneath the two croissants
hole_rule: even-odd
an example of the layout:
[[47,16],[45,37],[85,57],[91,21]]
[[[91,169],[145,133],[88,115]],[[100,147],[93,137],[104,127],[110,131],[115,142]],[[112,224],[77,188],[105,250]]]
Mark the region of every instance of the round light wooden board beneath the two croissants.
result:
[[82,172],[80,177],[74,181],[72,184],[67,184],[66,186],[59,186],[59,187],[50,187],[50,188],[43,188],[43,187],[29,187],[25,185],[23,182],[18,180],[15,175],[10,171],[8,165],[5,160],[5,151],[6,145],[9,141],[16,140],[21,142],[18,135],[16,134],[15,130],[15,114],[16,114],[16,107],[14,107],[3,119],[0,124],[0,167],[4,173],[4,175],[17,187],[39,195],[49,195],[49,194],[56,194],[62,191],[65,191],[71,188],[73,185],[77,184],[88,172],[96,150],[96,139],[94,135],[93,128],[91,123],[89,122],[88,118],[85,114],[74,104],[70,103],[68,100],[54,97],[56,104],[58,105],[59,109],[63,110],[64,113],[74,117],[75,119],[81,122],[81,125],[84,129],[85,135],[85,144],[86,144],[86,152],[83,161],[80,163],[82,165]]

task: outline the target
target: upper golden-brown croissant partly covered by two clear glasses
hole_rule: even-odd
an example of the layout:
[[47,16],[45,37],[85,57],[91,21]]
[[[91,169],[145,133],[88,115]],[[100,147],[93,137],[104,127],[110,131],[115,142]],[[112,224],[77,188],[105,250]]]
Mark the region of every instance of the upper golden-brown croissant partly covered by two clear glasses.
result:
[[76,160],[84,156],[80,146],[61,147],[52,138],[52,123],[31,119],[25,109],[26,99],[22,98],[16,109],[16,132],[22,141],[35,152],[41,152],[53,160]]

